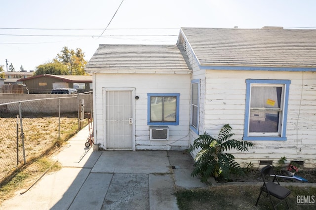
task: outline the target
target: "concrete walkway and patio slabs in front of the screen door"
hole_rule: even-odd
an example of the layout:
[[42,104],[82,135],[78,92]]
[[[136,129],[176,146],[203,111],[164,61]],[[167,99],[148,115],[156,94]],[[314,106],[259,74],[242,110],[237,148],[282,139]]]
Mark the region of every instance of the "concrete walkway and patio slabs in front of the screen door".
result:
[[62,164],[29,191],[2,203],[7,210],[177,210],[178,188],[208,187],[191,177],[182,151],[92,151],[82,129],[53,155]]

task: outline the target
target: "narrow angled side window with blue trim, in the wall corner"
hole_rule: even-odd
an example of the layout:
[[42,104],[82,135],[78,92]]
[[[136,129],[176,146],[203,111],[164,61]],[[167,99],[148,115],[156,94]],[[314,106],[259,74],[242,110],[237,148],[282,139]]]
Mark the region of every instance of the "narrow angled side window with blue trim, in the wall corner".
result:
[[191,81],[191,122],[190,128],[198,134],[199,80]]

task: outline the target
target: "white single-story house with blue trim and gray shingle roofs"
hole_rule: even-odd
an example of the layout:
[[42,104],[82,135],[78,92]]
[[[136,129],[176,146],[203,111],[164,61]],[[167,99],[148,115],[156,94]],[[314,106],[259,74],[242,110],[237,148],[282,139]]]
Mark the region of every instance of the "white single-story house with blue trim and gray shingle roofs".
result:
[[316,30],[181,28],[176,45],[101,44],[85,69],[102,149],[186,149],[230,124],[255,144],[230,151],[241,165],[316,168]]

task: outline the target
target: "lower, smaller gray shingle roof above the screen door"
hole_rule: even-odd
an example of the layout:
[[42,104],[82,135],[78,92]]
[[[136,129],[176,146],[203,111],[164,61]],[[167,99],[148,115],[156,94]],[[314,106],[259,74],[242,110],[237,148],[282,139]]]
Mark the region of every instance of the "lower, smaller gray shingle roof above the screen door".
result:
[[191,73],[182,46],[100,44],[85,71]]

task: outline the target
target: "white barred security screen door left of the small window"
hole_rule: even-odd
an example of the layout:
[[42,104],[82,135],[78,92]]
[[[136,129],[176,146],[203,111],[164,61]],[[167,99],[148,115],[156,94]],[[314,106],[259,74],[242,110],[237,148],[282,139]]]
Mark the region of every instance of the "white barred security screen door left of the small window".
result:
[[133,90],[105,90],[107,149],[134,150]]

